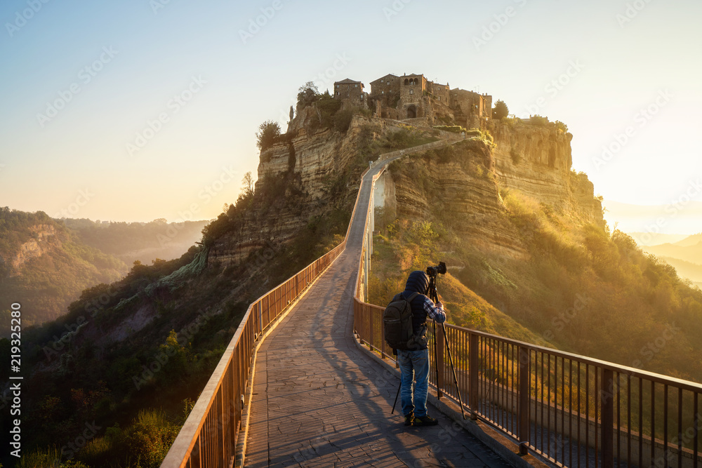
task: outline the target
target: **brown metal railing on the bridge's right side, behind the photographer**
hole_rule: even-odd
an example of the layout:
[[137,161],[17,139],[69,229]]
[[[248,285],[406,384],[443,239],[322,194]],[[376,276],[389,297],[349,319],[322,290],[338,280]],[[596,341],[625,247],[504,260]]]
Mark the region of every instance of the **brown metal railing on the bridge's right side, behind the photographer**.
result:
[[[380,359],[392,359],[383,339],[384,308],[364,302],[368,229],[366,222],[355,332]],[[512,437],[522,453],[530,450],[559,466],[587,468],[698,468],[702,462],[702,385],[446,325],[446,336],[441,327],[436,340],[430,336],[430,383],[439,398],[456,404],[444,340],[451,345],[458,392],[472,418]]]

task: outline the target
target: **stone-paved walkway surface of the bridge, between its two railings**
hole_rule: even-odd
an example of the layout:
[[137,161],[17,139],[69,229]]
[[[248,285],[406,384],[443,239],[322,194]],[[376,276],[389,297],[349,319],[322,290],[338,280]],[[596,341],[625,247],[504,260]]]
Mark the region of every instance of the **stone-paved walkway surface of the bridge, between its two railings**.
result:
[[399,380],[355,345],[352,294],[372,173],[347,249],[259,349],[245,466],[507,467],[432,406],[437,427],[405,427],[399,402],[390,415]]

